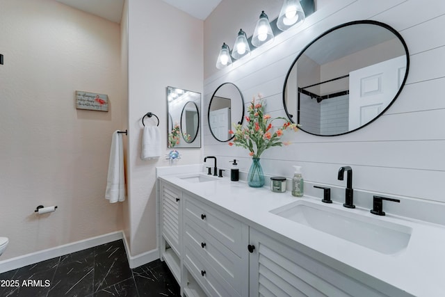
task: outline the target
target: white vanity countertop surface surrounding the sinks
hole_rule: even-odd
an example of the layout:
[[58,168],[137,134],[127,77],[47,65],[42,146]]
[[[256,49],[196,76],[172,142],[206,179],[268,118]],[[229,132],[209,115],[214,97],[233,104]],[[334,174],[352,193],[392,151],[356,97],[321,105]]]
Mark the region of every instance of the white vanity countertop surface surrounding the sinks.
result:
[[404,219],[388,213],[387,216],[375,216],[370,214],[369,209],[346,209],[338,202],[329,204],[329,207],[342,211],[411,227],[412,234],[407,248],[393,255],[385,255],[269,212],[296,200],[326,205],[321,202],[321,197],[296,198],[289,191],[274,193],[266,187],[251,188],[246,182],[231,182],[229,177],[212,182],[191,183],[179,178],[184,173],[158,174],[166,182],[200,196],[213,206],[232,212],[243,223],[259,231],[265,228],[284,236],[289,239],[286,240],[287,244],[295,243],[304,249],[300,251],[317,257],[321,262],[329,262],[330,266],[343,273],[345,271],[341,268],[344,266],[338,262],[414,296],[445,296],[445,227],[442,225]]

